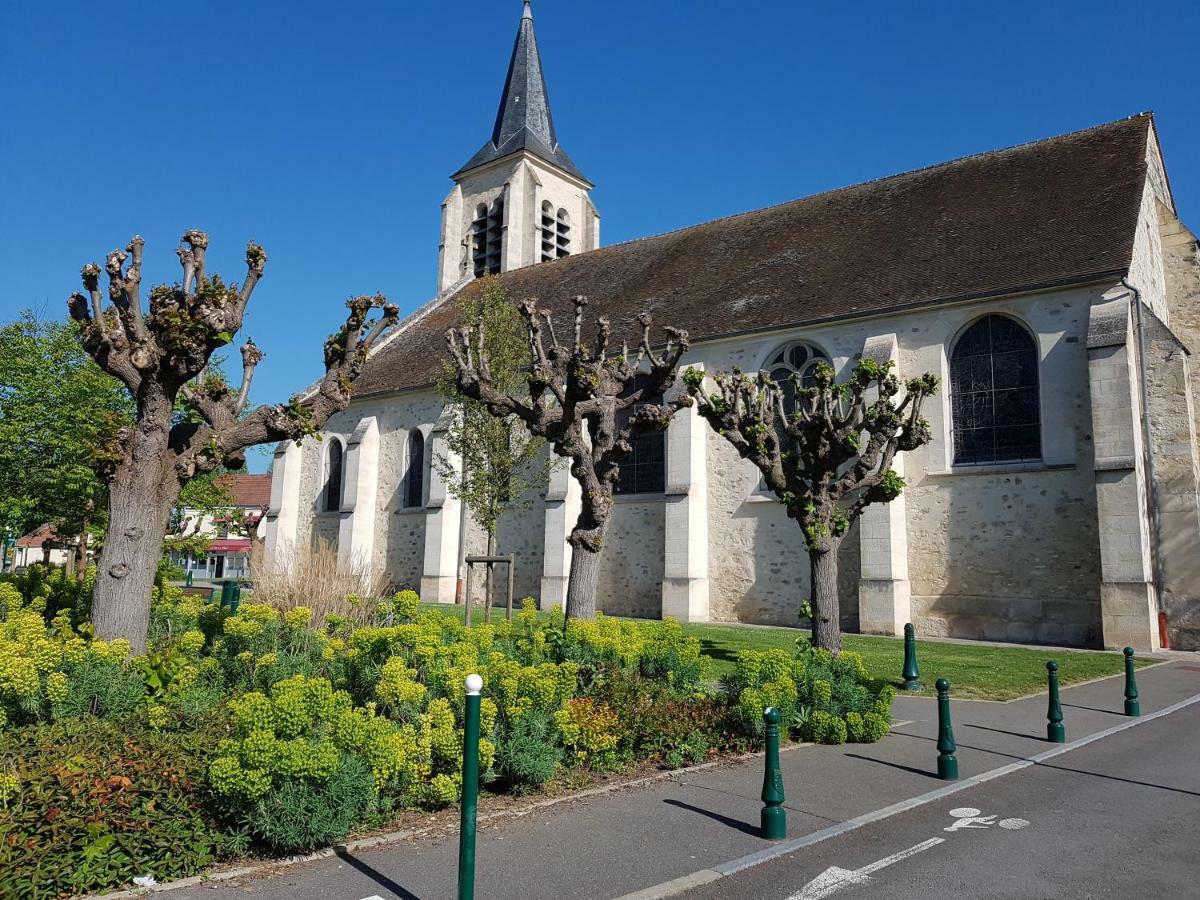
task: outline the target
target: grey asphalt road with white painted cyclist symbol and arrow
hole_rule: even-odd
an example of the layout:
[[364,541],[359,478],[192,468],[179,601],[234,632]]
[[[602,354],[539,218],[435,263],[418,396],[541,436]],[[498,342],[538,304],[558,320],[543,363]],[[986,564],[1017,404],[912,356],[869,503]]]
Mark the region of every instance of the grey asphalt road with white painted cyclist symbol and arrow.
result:
[[1194,704],[683,896],[1196,898],[1198,823]]

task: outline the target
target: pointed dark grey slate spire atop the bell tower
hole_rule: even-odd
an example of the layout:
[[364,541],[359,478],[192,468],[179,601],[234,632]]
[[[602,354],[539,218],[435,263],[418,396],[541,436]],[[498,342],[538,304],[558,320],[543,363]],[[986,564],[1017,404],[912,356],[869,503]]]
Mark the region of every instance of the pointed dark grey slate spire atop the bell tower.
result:
[[554,118],[550,112],[550,96],[541,72],[541,55],[533,30],[533,11],[524,0],[517,40],[512,46],[509,74],[496,113],[492,138],[457,173],[484,166],[510,154],[526,150],[560,169],[583,179],[571,158],[558,145]]

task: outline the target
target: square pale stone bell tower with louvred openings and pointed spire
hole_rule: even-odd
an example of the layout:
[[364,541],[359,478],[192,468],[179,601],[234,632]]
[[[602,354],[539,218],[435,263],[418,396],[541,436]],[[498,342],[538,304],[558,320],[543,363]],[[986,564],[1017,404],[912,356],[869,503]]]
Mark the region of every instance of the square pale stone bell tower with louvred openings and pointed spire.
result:
[[492,136],[442,204],[438,295],[472,278],[600,246],[592,182],[554,132],[533,11],[524,0]]

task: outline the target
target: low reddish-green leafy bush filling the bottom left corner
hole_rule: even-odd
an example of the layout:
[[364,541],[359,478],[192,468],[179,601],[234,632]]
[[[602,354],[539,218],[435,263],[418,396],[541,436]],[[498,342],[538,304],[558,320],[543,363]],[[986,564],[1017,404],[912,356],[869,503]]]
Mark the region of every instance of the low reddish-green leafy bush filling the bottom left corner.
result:
[[0,896],[166,881],[244,850],[206,810],[220,733],[217,720],[169,734],[103,720],[0,731]]

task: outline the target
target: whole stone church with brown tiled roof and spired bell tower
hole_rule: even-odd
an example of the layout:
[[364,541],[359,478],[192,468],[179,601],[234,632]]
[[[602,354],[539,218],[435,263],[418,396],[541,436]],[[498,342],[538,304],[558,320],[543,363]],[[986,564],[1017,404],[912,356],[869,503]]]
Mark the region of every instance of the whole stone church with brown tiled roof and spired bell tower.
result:
[[[494,127],[452,179],[437,295],[323,440],[275,451],[266,565],[326,542],[380,587],[461,596],[486,540],[433,464],[434,383],[460,300],[499,272],[564,323],[582,294],[618,338],[642,312],[686,329],[680,371],[845,377],[871,356],[942,378],[934,440],[898,466],[908,487],[844,542],[846,629],[1200,648],[1200,252],[1151,114],[605,247],[527,2]],[[565,596],[578,505],[557,467],[500,523],[517,595],[542,608]],[[799,527],[695,409],[640,439],[601,610],[797,625],[808,595]]]

